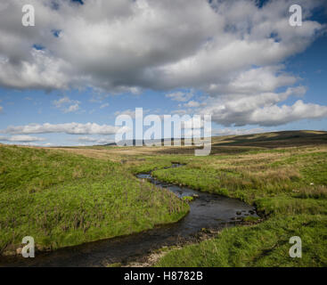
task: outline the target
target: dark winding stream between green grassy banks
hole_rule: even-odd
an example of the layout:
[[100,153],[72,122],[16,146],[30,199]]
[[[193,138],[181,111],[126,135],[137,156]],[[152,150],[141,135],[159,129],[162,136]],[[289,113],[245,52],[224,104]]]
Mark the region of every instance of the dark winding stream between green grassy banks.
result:
[[[173,167],[179,167],[173,165]],[[190,213],[176,224],[156,227],[109,240],[88,242],[48,253],[36,253],[35,258],[0,257],[1,266],[103,266],[110,263],[142,260],[151,250],[195,240],[202,228],[221,229],[234,225],[242,216],[257,216],[255,209],[240,200],[194,191],[168,183],[160,183],[151,174],[137,175],[157,186],[167,188],[179,197],[198,195],[190,204]]]

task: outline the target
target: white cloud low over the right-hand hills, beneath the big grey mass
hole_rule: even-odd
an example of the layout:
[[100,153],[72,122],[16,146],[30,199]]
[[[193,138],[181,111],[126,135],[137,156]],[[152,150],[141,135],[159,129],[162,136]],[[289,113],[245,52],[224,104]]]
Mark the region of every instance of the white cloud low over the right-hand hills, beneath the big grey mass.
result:
[[280,94],[231,94],[208,99],[207,106],[198,111],[211,114],[215,122],[224,126],[278,126],[303,118],[327,117],[327,106],[306,104],[302,100],[280,106],[291,95],[303,96],[305,93],[306,89],[299,86]]

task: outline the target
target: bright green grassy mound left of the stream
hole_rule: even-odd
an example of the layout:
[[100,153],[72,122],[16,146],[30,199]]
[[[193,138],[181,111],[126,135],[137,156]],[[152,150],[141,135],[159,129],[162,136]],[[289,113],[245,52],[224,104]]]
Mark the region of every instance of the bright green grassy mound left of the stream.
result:
[[119,163],[67,151],[0,146],[0,252],[24,236],[61,248],[172,223],[189,210]]

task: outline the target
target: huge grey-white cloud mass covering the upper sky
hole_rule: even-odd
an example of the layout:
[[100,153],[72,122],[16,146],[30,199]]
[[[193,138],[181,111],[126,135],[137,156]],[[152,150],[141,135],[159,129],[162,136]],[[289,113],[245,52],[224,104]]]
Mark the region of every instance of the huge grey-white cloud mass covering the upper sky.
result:
[[[302,101],[282,106],[289,95],[276,92],[297,84],[298,77],[283,72],[281,62],[303,52],[325,29],[308,20],[325,1],[298,0],[304,22],[296,28],[289,24],[293,1],[273,0],[261,8],[256,2],[30,0],[37,19],[36,27],[27,28],[21,26],[21,1],[4,0],[0,85],[91,86],[111,93],[150,88],[181,102],[176,89],[200,90],[211,97],[210,108],[200,111],[226,126],[326,116],[324,106]],[[78,109],[70,106],[65,110]]]

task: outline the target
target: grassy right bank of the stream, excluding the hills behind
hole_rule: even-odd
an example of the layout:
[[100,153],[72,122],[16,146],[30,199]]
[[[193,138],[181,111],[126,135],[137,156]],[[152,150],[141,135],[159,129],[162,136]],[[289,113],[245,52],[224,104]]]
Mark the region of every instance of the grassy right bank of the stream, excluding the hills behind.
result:
[[[242,199],[266,217],[173,250],[157,266],[327,266],[326,151],[325,145],[263,149],[155,171],[163,181]],[[302,258],[289,255],[292,236],[302,240]]]

